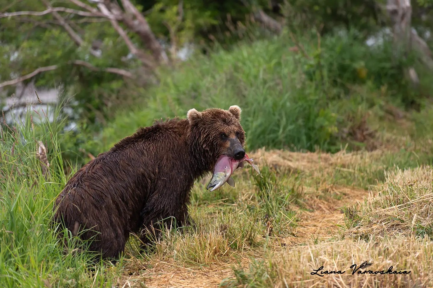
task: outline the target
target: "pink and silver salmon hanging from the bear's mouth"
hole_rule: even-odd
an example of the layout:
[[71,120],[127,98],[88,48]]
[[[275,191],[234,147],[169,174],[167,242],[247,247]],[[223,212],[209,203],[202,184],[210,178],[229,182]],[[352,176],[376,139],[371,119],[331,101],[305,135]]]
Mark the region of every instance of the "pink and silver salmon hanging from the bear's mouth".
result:
[[245,156],[240,159],[236,160],[234,158],[231,158],[227,155],[221,155],[220,158],[216,161],[215,167],[213,168],[213,175],[212,179],[210,179],[209,184],[207,185],[206,189],[210,189],[210,192],[213,190],[216,190],[224,185],[224,183],[228,183],[230,186],[235,187],[235,181],[233,178],[231,178],[233,171],[235,171],[237,168],[242,168],[244,161],[248,162],[257,173],[260,174],[259,167],[257,165],[253,164],[253,159],[249,158],[248,155],[245,154]]

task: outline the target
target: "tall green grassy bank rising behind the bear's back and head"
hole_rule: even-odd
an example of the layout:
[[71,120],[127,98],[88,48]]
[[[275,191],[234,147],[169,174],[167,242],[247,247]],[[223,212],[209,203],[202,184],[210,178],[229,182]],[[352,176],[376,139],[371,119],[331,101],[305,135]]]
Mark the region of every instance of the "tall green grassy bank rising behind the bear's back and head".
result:
[[416,63],[395,59],[387,41],[369,47],[355,32],[319,40],[305,33],[301,44],[288,35],[246,42],[161,70],[159,84],[120,108],[97,142],[83,148],[99,153],[154,119],[232,104],[242,108],[249,149],[371,148],[370,128],[383,130],[387,117],[425,107],[429,82],[411,87],[401,71]]

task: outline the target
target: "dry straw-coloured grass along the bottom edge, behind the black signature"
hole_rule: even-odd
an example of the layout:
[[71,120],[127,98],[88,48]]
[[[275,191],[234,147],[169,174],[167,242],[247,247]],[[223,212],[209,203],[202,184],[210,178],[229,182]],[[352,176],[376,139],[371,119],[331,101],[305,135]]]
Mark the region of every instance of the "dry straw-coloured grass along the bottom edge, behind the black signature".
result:
[[[352,275],[350,266],[360,266],[364,261],[372,265],[361,271],[379,271],[379,274],[358,274],[357,270]],[[236,277],[224,284],[226,287],[432,287],[432,261],[433,243],[425,238],[345,239],[272,253],[263,262],[253,261],[249,268],[235,269]],[[344,273],[311,275],[321,266],[322,272]],[[391,266],[392,271],[410,271],[410,274],[380,274]]]

